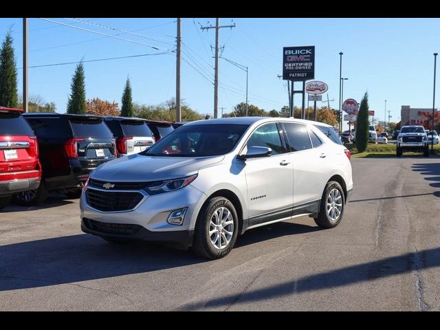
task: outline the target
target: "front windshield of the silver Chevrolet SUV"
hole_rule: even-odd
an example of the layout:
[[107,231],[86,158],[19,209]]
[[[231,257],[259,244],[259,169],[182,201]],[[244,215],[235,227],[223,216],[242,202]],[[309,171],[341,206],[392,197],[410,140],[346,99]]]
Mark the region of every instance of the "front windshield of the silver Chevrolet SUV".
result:
[[194,124],[181,126],[141,155],[201,157],[224,155],[248,129],[239,124]]

